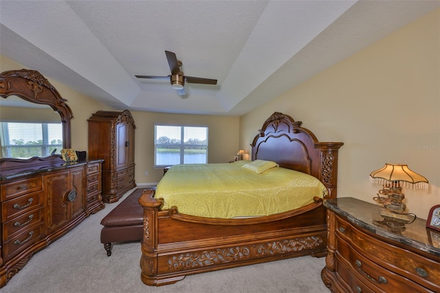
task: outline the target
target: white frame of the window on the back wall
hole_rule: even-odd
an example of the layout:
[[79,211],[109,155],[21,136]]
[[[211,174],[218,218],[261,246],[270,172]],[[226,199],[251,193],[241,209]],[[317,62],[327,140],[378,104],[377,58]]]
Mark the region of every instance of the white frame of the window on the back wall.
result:
[[208,145],[209,145],[209,127],[206,125],[193,125],[193,124],[164,124],[164,123],[155,123],[154,124],[154,168],[156,169],[162,169],[167,166],[173,166],[173,164],[157,164],[157,127],[179,127],[180,128],[180,143],[177,144],[179,147],[179,156],[180,156],[180,162],[178,164],[192,164],[192,163],[185,163],[184,162],[184,156],[185,156],[185,147],[190,144],[184,143],[184,135],[185,135],[185,129],[190,127],[199,127],[206,129],[206,144],[200,144],[201,146],[206,147],[206,154],[205,154],[205,162],[199,163],[199,164],[208,164]]

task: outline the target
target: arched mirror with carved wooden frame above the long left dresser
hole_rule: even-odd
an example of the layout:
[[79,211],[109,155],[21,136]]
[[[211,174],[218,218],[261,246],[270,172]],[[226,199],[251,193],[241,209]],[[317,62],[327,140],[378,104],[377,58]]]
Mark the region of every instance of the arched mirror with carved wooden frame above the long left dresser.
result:
[[[40,144],[54,144],[51,151],[42,152],[43,155],[37,157],[50,157],[52,153],[59,153],[61,149],[71,147],[70,120],[73,118],[72,110],[67,105],[67,100],[62,98],[54,86],[39,72],[30,69],[2,72],[0,74],[0,96],[2,98],[0,105],[3,108],[1,111],[2,121],[48,124],[49,126],[45,126],[43,129],[43,133],[47,131],[47,128],[57,128],[49,130],[49,132],[58,136],[47,135],[45,142],[36,144],[36,147]],[[5,109],[10,111],[3,111]],[[23,158],[26,156],[14,155],[12,151],[5,151],[5,144],[11,144],[12,140],[5,143],[4,135],[3,131],[3,140],[0,141],[2,146],[0,166],[3,166],[4,161],[8,161],[9,166],[10,162],[23,164],[29,160],[36,160],[35,155],[32,155],[33,158]],[[37,141],[40,138],[34,140]],[[12,144],[17,141],[23,143],[23,139],[15,136]]]

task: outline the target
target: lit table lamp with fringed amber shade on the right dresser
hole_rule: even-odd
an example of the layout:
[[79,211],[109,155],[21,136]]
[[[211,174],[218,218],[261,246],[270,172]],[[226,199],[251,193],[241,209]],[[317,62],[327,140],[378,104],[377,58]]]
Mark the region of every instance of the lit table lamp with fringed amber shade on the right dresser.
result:
[[[373,197],[375,202],[384,205],[380,210],[382,217],[403,222],[414,221],[414,214],[405,213],[406,206],[402,202],[405,195],[401,193],[401,188],[427,189],[428,180],[425,177],[411,171],[406,164],[385,164],[382,169],[370,173],[370,181],[382,184],[377,197]],[[408,215],[414,215],[414,219]]]

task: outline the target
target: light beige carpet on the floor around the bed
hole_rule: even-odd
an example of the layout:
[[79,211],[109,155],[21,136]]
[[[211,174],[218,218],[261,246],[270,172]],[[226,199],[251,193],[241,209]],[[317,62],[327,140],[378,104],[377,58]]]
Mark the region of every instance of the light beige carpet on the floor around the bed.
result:
[[320,279],[325,258],[314,257],[195,274],[161,287],[144,285],[140,280],[140,242],[116,243],[111,257],[100,243],[100,221],[119,203],[107,204],[36,253],[0,292],[329,292]]

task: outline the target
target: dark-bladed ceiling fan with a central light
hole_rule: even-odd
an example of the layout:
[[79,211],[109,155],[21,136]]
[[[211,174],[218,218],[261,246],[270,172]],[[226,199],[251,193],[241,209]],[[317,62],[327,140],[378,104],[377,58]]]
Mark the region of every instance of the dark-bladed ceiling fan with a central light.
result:
[[137,78],[153,78],[164,79],[169,78],[173,89],[177,89],[179,96],[185,94],[185,81],[187,83],[201,83],[203,85],[217,85],[217,79],[201,78],[194,76],[184,76],[184,72],[181,71],[181,61],[177,60],[176,54],[170,51],[165,51],[166,59],[170,65],[171,74],[168,76],[150,76],[150,75],[135,75]]

